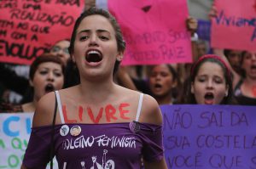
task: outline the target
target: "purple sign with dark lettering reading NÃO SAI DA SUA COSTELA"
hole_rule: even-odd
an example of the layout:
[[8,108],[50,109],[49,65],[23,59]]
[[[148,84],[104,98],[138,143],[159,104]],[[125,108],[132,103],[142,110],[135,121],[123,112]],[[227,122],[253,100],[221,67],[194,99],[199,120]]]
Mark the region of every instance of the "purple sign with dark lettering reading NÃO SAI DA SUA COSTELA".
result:
[[163,105],[171,168],[256,168],[256,106]]

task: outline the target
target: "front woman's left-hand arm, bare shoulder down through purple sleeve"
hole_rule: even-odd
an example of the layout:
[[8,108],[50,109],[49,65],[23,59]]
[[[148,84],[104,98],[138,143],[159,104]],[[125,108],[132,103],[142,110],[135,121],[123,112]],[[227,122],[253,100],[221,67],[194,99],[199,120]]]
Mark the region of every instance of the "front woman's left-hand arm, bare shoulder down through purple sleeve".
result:
[[33,115],[32,132],[26,147],[21,169],[43,168],[49,163],[51,124],[54,110],[55,93],[48,93],[38,101],[35,114]]

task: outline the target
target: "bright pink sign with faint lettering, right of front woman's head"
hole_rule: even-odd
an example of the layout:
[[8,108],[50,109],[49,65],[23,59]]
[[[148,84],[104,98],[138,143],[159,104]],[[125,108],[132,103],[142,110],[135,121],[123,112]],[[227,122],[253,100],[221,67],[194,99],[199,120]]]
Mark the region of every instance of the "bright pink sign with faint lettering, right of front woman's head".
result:
[[186,0],[108,0],[126,42],[123,65],[192,61]]

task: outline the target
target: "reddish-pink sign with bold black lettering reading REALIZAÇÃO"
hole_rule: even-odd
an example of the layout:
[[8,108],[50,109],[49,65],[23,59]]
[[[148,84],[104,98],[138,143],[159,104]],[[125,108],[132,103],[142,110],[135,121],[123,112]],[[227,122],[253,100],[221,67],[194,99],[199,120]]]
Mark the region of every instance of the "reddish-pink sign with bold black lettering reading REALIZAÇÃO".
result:
[[69,39],[84,0],[0,1],[0,61],[30,65],[57,41]]

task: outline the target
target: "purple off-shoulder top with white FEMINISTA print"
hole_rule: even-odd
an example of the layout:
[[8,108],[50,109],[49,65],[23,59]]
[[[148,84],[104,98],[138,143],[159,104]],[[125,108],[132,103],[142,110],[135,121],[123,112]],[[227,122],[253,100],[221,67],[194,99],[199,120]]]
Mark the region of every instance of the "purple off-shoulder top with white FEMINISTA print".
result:
[[[49,162],[51,126],[32,128],[23,165],[45,168]],[[163,158],[162,127],[137,121],[55,126],[59,168],[141,168]]]

